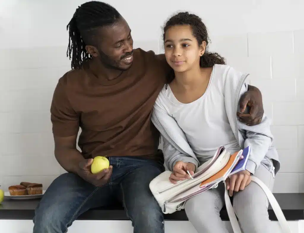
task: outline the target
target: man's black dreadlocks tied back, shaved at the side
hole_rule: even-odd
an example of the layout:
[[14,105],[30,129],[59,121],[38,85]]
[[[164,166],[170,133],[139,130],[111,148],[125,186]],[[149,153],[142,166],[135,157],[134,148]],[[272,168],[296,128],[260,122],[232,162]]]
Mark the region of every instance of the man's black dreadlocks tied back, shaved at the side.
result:
[[93,45],[92,37],[94,37],[96,29],[116,23],[120,17],[114,7],[104,2],[86,2],[76,9],[67,25],[69,31],[67,57],[72,59],[72,69],[79,69],[84,61],[91,58],[85,46]]

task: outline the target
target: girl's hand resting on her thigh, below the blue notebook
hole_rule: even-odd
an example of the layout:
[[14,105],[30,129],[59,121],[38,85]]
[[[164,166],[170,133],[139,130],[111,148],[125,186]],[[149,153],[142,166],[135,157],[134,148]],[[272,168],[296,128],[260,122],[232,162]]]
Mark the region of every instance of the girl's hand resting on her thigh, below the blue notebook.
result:
[[251,173],[247,170],[237,172],[226,179],[226,187],[229,190],[229,196],[234,192],[244,190],[244,188],[251,182]]

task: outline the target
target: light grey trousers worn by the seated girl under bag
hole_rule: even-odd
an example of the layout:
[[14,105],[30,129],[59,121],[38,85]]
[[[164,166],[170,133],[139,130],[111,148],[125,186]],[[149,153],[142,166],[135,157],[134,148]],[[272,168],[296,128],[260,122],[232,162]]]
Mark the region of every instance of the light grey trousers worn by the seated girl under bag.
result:
[[[272,191],[274,178],[271,173],[271,160],[263,160],[254,176]],[[208,190],[192,197],[185,203],[189,221],[199,233],[228,233],[219,211],[225,205],[223,183],[216,189]],[[243,191],[233,194],[233,209],[244,233],[270,233],[268,217],[268,199],[264,191],[254,182],[250,182]]]

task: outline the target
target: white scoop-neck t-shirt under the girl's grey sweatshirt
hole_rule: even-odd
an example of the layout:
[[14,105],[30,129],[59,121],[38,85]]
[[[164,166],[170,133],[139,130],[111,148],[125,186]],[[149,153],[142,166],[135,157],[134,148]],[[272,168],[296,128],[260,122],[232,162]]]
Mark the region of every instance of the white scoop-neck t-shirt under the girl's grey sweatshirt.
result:
[[185,132],[201,163],[211,158],[219,146],[225,146],[230,153],[240,150],[225,110],[223,77],[215,72],[213,68],[206,92],[191,103],[179,102],[169,85],[162,89],[172,104],[171,116]]

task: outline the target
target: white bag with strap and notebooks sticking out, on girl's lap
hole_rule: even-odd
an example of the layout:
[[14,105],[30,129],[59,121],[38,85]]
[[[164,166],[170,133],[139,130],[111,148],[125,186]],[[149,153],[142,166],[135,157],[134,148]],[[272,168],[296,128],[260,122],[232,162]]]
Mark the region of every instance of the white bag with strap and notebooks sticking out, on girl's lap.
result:
[[[209,189],[216,188],[218,183],[225,184],[225,204],[227,213],[234,233],[241,233],[237,217],[234,213],[225,180],[233,172],[236,165],[244,166],[246,158],[250,154],[250,147],[237,151],[232,155],[224,147],[219,147],[214,156],[197,169],[192,179],[178,181],[178,184],[172,184],[169,181],[170,171],[162,172],[150,182],[150,190],[157,200],[164,214],[171,214],[175,211],[185,208],[186,200],[199,195]],[[244,159],[240,160],[243,155]],[[240,161],[240,162],[239,162]],[[282,228],[282,233],[291,233],[286,218],[269,188],[256,176],[251,176],[251,182],[257,183],[266,194],[271,207],[273,208],[278,222]]]

